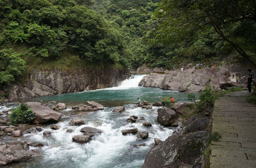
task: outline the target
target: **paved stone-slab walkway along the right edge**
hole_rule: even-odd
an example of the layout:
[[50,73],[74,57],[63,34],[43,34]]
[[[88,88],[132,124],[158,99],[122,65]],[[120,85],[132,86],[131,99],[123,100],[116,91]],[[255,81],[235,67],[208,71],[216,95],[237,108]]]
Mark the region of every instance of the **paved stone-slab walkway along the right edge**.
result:
[[231,92],[215,101],[212,133],[221,138],[211,143],[211,168],[256,167],[256,106],[247,102],[248,95]]

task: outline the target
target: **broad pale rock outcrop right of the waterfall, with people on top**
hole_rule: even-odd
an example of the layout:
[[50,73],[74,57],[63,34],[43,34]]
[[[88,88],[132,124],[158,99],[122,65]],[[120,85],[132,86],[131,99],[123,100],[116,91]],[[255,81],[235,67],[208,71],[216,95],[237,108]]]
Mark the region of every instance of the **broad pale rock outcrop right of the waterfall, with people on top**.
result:
[[227,82],[229,70],[225,68],[193,68],[184,71],[169,71],[165,74],[150,73],[143,77],[139,86],[159,87],[160,89],[179,90],[181,92],[201,92],[206,84],[220,89],[220,83]]

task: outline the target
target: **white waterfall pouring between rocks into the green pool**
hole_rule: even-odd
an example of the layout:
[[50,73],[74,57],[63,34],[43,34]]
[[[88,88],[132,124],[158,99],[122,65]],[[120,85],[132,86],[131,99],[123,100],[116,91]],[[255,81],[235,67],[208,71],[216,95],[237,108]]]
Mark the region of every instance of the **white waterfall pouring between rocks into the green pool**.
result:
[[[139,82],[146,75],[132,75],[129,79],[126,79],[121,82],[118,87],[110,87],[101,90],[121,90],[121,89],[129,89],[131,87],[139,87]],[[99,89],[98,89],[99,90]]]

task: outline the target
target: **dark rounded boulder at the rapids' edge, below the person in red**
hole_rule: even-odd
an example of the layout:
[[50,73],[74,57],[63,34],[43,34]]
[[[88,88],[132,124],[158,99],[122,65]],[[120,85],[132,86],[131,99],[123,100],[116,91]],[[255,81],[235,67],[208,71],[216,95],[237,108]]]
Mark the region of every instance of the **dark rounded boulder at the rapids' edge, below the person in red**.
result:
[[174,110],[166,107],[157,110],[157,122],[164,126],[170,126],[175,122],[177,114]]

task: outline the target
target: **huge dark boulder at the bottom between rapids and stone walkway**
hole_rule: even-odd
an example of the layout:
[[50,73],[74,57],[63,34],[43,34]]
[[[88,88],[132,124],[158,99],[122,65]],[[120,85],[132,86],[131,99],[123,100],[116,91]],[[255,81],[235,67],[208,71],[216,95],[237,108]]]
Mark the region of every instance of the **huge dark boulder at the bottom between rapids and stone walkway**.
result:
[[207,131],[185,135],[172,135],[151,148],[142,168],[155,167],[204,167]]

